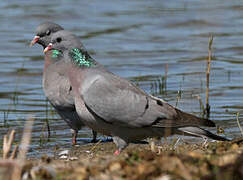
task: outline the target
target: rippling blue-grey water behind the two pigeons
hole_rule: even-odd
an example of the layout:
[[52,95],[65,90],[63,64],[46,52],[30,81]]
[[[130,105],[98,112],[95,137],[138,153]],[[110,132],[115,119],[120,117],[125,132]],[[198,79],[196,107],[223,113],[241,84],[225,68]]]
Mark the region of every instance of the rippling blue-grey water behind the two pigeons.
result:
[[[47,20],[79,35],[92,56],[110,71],[198,116],[201,110],[195,96],[205,104],[205,60],[213,33],[210,118],[225,129],[227,137],[240,136],[236,113],[243,115],[242,1],[12,0],[0,4],[1,144],[9,129],[16,129],[18,141],[25,119],[34,114],[30,155],[71,147],[70,129],[42,91],[42,48],[28,47],[37,25]],[[166,89],[159,91],[158,80],[162,82],[166,69]],[[86,128],[80,131],[78,143],[87,138],[91,132]]]

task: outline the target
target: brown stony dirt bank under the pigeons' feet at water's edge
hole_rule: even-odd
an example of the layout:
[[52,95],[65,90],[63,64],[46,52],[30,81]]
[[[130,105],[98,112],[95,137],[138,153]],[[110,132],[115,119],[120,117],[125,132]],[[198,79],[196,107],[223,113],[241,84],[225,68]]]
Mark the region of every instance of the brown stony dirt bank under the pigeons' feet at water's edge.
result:
[[25,179],[169,180],[243,179],[243,138],[230,142],[130,144],[120,155],[115,145],[73,147],[54,158],[27,160]]

